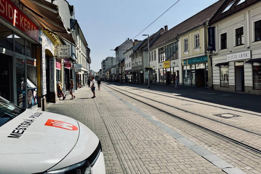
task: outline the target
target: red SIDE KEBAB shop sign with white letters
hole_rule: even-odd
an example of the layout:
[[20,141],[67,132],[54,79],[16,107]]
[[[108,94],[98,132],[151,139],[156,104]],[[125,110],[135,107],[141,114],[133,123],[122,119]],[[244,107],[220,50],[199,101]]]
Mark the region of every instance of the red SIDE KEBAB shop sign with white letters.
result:
[[38,27],[10,0],[0,0],[0,15],[13,26],[38,41]]

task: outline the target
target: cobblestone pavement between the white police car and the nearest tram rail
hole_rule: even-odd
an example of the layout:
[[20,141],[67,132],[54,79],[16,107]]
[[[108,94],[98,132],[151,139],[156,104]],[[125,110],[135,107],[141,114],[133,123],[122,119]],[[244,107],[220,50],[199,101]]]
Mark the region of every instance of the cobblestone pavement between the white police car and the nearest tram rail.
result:
[[[232,167],[245,173],[260,173],[260,156],[250,150],[114,92],[122,98],[117,99],[105,88],[102,85],[95,99],[90,99],[90,88],[79,89],[74,100],[61,100],[50,105],[47,111],[75,118],[98,136],[106,173],[229,173],[231,167],[217,167],[220,164],[213,164],[195,153],[139,111],[216,154]],[[139,110],[132,109],[125,101]]]

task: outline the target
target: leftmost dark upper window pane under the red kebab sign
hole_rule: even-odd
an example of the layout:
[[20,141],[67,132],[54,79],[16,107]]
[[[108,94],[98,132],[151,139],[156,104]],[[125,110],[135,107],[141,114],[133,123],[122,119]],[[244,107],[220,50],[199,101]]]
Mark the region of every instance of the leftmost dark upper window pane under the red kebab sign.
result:
[[13,31],[1,24],[0,31],[0,47],[13,51]]

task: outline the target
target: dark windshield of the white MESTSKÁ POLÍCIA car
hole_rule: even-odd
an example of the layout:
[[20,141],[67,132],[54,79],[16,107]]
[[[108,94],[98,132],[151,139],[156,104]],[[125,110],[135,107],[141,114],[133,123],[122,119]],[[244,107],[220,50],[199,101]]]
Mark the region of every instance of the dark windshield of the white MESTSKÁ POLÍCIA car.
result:
[[21,108],[0,97],[0,126],[22,112],[23,110]]

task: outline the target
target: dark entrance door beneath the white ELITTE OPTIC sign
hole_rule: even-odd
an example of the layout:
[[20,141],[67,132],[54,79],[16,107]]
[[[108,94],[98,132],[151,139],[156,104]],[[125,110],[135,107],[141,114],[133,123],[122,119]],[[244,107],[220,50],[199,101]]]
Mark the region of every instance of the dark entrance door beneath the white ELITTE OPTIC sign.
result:
[[245,91],[244,62],[235,62],[236,91]]

